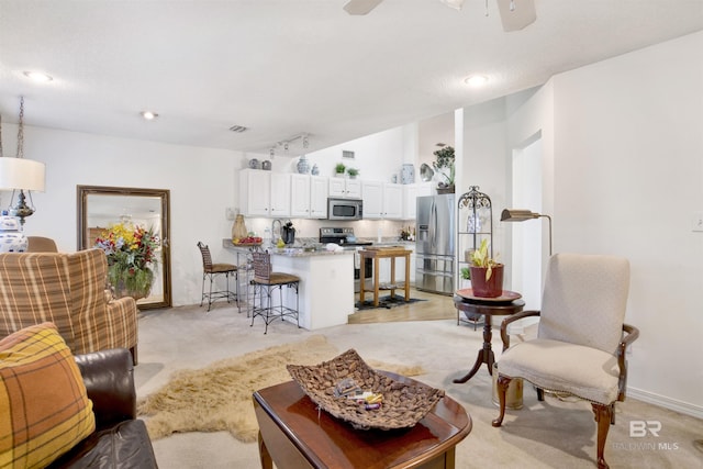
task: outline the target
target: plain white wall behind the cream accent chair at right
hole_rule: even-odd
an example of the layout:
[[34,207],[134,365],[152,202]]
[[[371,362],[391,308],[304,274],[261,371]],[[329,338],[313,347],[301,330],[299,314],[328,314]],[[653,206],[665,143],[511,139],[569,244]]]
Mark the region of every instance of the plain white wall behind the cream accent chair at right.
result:
[[[558,75],[507,108],[505,145],[495,132],[475,133],[495,155],[542,133],[555,253],[631,261],[626,321],[640,337],[628,358],[629,395],[698,416],[703,233],[691,219],[703,211],[702,49],[695,33]],[[504,160],[492,165],[476,183],[496,185]]]

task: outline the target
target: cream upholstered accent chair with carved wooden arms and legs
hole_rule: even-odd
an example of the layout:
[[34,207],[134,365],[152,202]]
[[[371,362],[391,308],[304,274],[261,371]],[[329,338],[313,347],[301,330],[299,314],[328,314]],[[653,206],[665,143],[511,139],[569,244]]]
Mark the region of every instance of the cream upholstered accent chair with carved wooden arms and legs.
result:
[[625,400],[626,348],[639,335],[624,323],[629,264],[614,256],[557,254],[549,259],[542,311],[524,311],[504,320],[507,325],[539,316],[537,338],[510,347],[498,362],[500,415],[505,416],[510,381],[533,383],[544,392],[573,395],[591,403],[598,424],[598,467],[606,468],[605,439],[615,423],[615,402]]

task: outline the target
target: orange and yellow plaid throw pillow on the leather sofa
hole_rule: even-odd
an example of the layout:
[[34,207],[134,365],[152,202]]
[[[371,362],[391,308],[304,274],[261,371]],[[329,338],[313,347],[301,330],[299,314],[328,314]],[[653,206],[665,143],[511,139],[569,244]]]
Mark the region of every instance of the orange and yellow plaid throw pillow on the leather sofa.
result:
[[0,340],[0,468],[45,467],[94,428],[92,402],[54,324]]

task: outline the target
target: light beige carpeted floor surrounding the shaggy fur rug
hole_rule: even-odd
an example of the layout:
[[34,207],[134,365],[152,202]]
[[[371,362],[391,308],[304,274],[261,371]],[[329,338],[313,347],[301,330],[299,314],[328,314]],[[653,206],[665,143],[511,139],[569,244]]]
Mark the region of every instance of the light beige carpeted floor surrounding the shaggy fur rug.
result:
[[[501,428],[491,426],[498,410],[491,400],[492,381],[486,366],[465,384],[451,381],[466,373],[482,345],[481,328],[457,325],[456,315],[314,332],[275,322],[266,335],[263,325],[250,327],[249,321],[246,314],[237,314],[236,308],[223,304],[215,304],[210,313],[198,306],[146,311],[140,320],[137,397],[157,392],[177,370],[204,368],[216,360],[322,334],[338,350],[355,348],[365,358],[420,365],[426,372],[415,379],[444,389],[461,403],[473,421],[473,429],[457,446],[457,468],[595,467],[595,423],[588,403],[555,398],[538,402],[526,384],[523,409],[509,410]],[[500,338],[496,334],[493,337],[493,350],[500,359]],[[618,403],[616,412],[605,449],[612,468],[701,467],[703,453],[694,442],[703,436],[703,421],[634,399]],[[659,421],[659,436],[631,437],[629,422],[635,420]],[[163,469],[260,467],[257,445],[242,443],[228,432],[174,434],[156,439],[154,449]]]

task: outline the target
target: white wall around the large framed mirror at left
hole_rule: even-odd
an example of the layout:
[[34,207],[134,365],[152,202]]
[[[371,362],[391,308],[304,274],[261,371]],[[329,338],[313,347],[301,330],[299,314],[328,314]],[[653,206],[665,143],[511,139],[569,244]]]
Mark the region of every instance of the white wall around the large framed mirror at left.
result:
[[[14,135],[16,125],[3,125],[4,148],[14,148]],[[168,189],[172,302],[200,301],[202,260],[196,244],[209,244],[215,259],[230,256],[221,245],[232,226],[225,208],[236,206],[238,153],[26,125],[24,142],[25,158],[46,164],[46,191],[33,193],[36,213],[26,219],[27,235],[53,237],[60,250],[76,250],[78,185]],[[2,193],[1,201],[7,206],[10,194]]]

